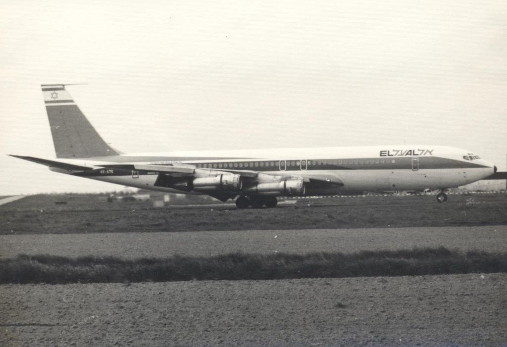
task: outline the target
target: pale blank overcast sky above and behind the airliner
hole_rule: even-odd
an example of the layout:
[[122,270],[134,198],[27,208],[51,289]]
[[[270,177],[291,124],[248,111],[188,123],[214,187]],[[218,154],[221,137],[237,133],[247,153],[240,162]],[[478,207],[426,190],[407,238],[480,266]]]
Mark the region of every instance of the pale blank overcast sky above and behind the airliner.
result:
[[505,170],[505,1],[0,3],[0,195],[54,157],[40,84],[124,152],[434,144]]

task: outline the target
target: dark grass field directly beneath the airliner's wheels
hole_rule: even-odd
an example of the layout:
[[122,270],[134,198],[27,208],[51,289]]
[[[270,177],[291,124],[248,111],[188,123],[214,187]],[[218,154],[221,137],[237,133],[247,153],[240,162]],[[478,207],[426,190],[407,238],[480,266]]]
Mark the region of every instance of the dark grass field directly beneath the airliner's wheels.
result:
[[[65,204],[57,204],[65,202]],[[275,209],[155,208],[97,195],[37,195],[0,206],[0,234],[177,232],[507,224],[505,194],[300,199]]]

